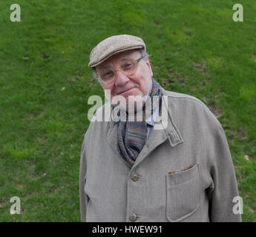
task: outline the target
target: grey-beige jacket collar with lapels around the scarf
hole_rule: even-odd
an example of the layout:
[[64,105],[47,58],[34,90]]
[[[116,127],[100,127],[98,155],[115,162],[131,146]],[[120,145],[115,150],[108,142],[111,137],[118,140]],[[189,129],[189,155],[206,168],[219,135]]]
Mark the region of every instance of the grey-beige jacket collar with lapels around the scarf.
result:
[[[145,146],[141,150],[139,156],[137,157],[137,161],[135,161],[134,166],[136,166],[136,164],[138,164],[140,162],[140,160],[144,159],[143,157],[145,157],[149,153],[151,153],[151,151],[154,150],[157,146],[159,146],[160,144],[163,144],[163,142],[165,142],[165,140],[167,138],[168,138],[168,141],[169,141],[171,147],[175,147],[175,146],[177,146],[177,144],[183,143],[183,137],[181,136],[180,131],[178,130],[177,126],[174,124],[174,121],[172,119],[171,99],[168,99],[168,93],[166,92],[166,90],[164,90],[163,87],[160,87],[160,88],[163,93],[163,97],[162,97],[163,102],[162,102],[161,110],[163,110],[163,106],[165,106],[165,108],[167,108],[168,125],[165,126],[166,124],[164,123],[163,119],[160,119],[159,122],[155,122],[154,128],[151,130],[151,134],[148,137],[148,140],[145,142]],[[108,116],[111,116],[111,114],[109,114]],[[110,121],[108,121],[105,137],[106,137],[108,143],[110,144],[110,146],[119,155],[119,152],[117,150],[118,123],[114,122],[111,119],[109,119],[109,120]],[[158,127],[162,127],[162,129],[156,130],[155,129],[156,125]]]

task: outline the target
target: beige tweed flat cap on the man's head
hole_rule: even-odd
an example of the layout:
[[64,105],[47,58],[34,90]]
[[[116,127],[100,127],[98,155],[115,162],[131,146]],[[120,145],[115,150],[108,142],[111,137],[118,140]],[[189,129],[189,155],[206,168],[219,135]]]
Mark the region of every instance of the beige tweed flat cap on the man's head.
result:
[[88,66],[91,68],[96,67],[116,53],[134,49],[146,50],[144,41],[137,36],[119,35],[108,37],[93,48]]

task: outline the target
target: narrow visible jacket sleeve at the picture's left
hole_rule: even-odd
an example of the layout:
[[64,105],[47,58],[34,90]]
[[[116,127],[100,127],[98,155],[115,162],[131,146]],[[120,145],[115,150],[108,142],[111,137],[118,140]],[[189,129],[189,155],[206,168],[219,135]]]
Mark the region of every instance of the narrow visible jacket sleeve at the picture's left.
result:
[[82,143],[81,157],[80,157],[80,170],[79,170],[79,198],[80,198],[80,215],[81,221],[86,221],[86,209],[88,205],[88,196],[85,193],[85,182],[86,182],[86,156],[85,156],[85,139]]

